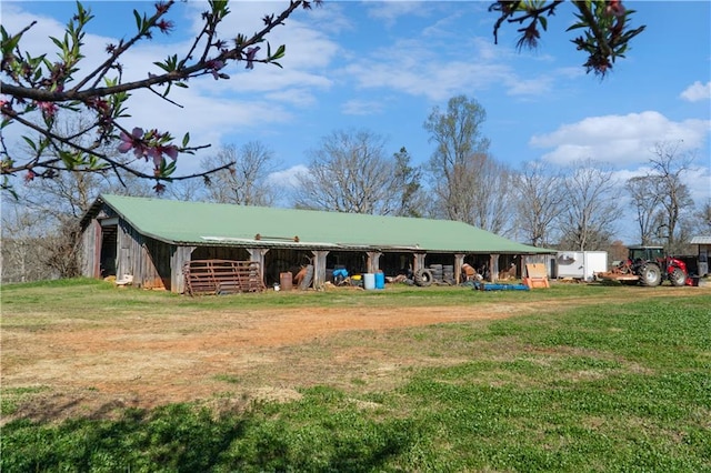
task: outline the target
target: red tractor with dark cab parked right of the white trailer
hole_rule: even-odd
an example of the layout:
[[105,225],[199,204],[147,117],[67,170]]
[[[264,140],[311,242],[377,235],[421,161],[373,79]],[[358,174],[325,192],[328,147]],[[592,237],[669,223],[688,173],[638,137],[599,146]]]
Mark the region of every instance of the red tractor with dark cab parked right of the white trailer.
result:
[[629,255],[614,270],[598,274],[603,280],[654,288],[664,280],[671,285],[692,284],[687,264],[664,254],[662,246],[629,246]]

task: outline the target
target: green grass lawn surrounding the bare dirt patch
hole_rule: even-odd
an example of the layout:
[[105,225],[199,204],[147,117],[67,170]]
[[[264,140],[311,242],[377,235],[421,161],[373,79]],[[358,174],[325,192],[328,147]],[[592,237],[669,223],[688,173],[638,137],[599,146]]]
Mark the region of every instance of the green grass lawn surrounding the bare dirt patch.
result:
[[[116,305],[111,315],[84,315],[93,318],[120,318],[122,306],[161,314],[228,303],[141,291],[119,299],[99,283],[64,284],[53,305],[47,285],[3,288],[3,312],[47,312],[21,323],[51,324],[50,309],[80,311],[87,288],[97,304]],[[605,302],[630,290],[633,300]],[[240,413],[194,403],[126,410],[118,420],[13,421],[2,427],[1,471],[711,472],[711,294],[645,299],[645,291],[553,288],[529,296],[570,299],[569,310],[542,304],[532,315],[391,331],[393,343],[461,360],[409,369],[395,388],[318,385],[298,401]],[[422,306],[521,296],[472,300],[458,289],[262,295],[240,303]],[[575,306],[581,296],[600,302]]]

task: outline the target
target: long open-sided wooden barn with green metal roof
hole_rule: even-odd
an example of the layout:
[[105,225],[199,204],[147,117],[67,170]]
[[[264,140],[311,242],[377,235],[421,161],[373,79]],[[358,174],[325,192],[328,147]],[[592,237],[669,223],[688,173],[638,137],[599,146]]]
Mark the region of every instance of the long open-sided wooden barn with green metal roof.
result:
[[82,218],[82,274],[131,275],[134,285],[184,291],[192,260],[258,262],[267,285],[284,271],[314,268],[313,285],[333,268],[351,273],[418,271],[428,264],[482,269],[540,262],[554,250],[517,243],[467,223],[102,194]]

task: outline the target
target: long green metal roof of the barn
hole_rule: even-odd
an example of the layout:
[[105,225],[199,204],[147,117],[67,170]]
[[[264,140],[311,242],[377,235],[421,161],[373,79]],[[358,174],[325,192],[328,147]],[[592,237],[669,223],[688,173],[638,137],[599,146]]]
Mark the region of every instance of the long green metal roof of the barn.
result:
[[[462,222],[102,194],[147,236],[183,245],[367,248],[461,253],[551,253]],[[259,238],[257,235],[260,235]],[[296,241],[298,240],[298,241]]]

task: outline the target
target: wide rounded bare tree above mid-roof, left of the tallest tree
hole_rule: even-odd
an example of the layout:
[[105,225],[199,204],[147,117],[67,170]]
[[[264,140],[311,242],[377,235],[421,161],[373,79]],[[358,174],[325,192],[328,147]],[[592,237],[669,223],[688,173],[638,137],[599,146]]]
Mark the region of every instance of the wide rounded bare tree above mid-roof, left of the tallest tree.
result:
[[[383,137],[368,130],[333,131],[311,152],[308,173],[298,175],[294,207],[391,215],[401,209],[395,162]],[[402,171],[402,170],[401,170]]]

